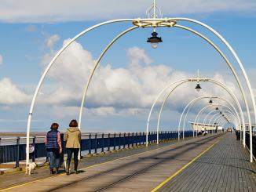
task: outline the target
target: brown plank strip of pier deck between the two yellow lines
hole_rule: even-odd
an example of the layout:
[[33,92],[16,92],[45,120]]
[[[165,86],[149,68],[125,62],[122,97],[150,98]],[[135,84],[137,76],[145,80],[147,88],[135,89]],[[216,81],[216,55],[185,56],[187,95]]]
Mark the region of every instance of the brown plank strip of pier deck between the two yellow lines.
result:
[[[94,158],[94,164],[90,162],[91,165],[82,168],[84,172],[78,175],[58,175],[33,183],[21,182],[9,191],[150,191],[221,137],[223,135],[204,136],[162,147],[144,148],[140,153],[130,150],[123,157],[123,152],[112,154],[121,157],[108,162],[105,162],[107,155]],[[84,161],[80,163],[81,166],[84,164]],[[23,178],[27,177],[23,175]]]

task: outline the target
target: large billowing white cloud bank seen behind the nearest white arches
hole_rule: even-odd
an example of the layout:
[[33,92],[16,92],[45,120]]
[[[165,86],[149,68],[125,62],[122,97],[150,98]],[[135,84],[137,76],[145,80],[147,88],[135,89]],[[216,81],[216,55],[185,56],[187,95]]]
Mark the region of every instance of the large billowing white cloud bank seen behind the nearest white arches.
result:
[[[167,83],[192,77],[191,74],[173,71],[165,65],[152,66],[152,60],[144,49],[133,47],[128,49],[126,54],[130,60],[126,68],[112,68],[110,64],[97,68],[87,93],[86,107],[89,107],[89,113],[142,114],[145,109],[151,107],[155,96]],[[51,52],[44,56],[42,65],[49,63],[53,55],[54,52]],[[94,63],[92,54],[81,44],[71,44],[49,71],[48,77],[57,81],[56,89],[45,91],[46,94],[42,96],[40,102],[78,107],[82,99],[82,90]],[[192,86],[194,87],[194,84]],[[190,98],[192,100],[196,96],[196,92],[191,92],[191,84],[182,85],[174,92],[171,103],[174,109],[179,109]]]

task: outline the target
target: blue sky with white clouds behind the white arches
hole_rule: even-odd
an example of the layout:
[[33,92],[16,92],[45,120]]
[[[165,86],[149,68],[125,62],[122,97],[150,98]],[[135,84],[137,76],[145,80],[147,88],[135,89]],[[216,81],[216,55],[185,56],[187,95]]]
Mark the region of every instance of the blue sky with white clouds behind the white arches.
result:
[[[75,1],[74,9],[77,9],[77,13],[68,14],[65,11],[68,3],[57,8],[53,2],[51,9],[42,5],[45,11],[40,12],[38,6],[29,2],[27,5],[31,7],[28,8],[19,3],[16,5],[13,1],[0,3],[0,131],[4,132],[26,130],[31,95],[43,68],[64,41],[104,20],[142,17],[150,5],[141,1],[133,8],[130,5],[132,2],[119,2],[119,7],[114,7],[117,2],[109,1],[108,6],[112,6],[104,9],[94,5],[102,1],[94,4]],[[188,0],[183,4],[179,1],[173,1],[173,4],[169,1],[158,3],[160,7],[162,5],[165,17],[191,17],[221,33],[239,54],[251,76],[251,84],[256,89],[254,1]],[[174,5],[177,9],[174,9]],[[84,13],[80,10],[81,6],[90,6],[90,9]],[[31,11],[27,11],[29,8]],[[57,8],[56,12],[54,8]],[[196,25],[185,22],[179,24],[206,34],[238,69],[225,45],[213,34]],[[78,118],[82,84],[88,78],[93,60],[97,59],[112,38],[127,27],[131,27],[131,24],[112,24],[98,28],[79,38],[64,53],[42,87],[35,107],[32,130],[45,131],[53,121],[59,122],[61,129],[65,129],[71,118]],[[204,77],[219,78],[239,94],[224,61],[206,42],[177,28],[159,28],[157,32],[163,38],[163,43],[158,49],[152,49],[146,42],[151,32],[152,29],[137,29],[126,34],[104,56],[88,92],[88,108],[82,123],[84,131],[143,131],[149,108],[157,93],[174,80],[195,77],[197,69]],[[194,87],[194,84],[185,85],[174,92],[163,113],[163,129],[177,128],[178,118],[186,103],[198,96]],[[225,96],[210,85],[206,84],[204,88],[203,94],[207,96]],[[192,110],[190,121],[205,103],[199,103]],[[155,127],[157,111],[153,113],[152,129]]]

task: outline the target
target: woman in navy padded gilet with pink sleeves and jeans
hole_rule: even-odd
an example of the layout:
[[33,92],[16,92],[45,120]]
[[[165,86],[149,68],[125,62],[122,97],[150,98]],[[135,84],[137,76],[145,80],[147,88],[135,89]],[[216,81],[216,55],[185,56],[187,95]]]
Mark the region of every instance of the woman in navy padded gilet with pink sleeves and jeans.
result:
[[60,154],[62,153],[60,132],[57,130],[59,125],[53,123],[51,130],[46,134],[46,151],[49,157],[49,170],[53,174],[53,168],[56,168],[56,174],[59,173],[60,167]]

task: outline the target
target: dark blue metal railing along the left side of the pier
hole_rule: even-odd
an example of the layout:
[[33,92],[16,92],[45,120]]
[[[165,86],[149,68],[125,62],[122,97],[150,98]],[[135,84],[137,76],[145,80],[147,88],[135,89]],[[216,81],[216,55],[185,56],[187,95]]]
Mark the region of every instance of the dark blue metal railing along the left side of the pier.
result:
[[[192,131],[185,131],[185,137],[192,136]],[[62,145],[65,146],[63,134]],[[177,139],[177,131],[159,132],[159,142],[170,139]],[[31,137],[30,158],[46,158],[46,145],[43,142],[44,136]],[[20,166],[20,161],[26,158],[26,145],[23,142],[26,137],[0,138],[0,163],[16,162],[16,167]],[[97,154],[98,152],[120,150],[122,148],[137,147],[144,145],[146,141],[145,132],[124,132],[124,133],[89,133],[82,134],[81,151],[86,154]],[[149,143],[156,143],[156,132],[149,132]],[[66,149],[64,147],[64,154]]]

